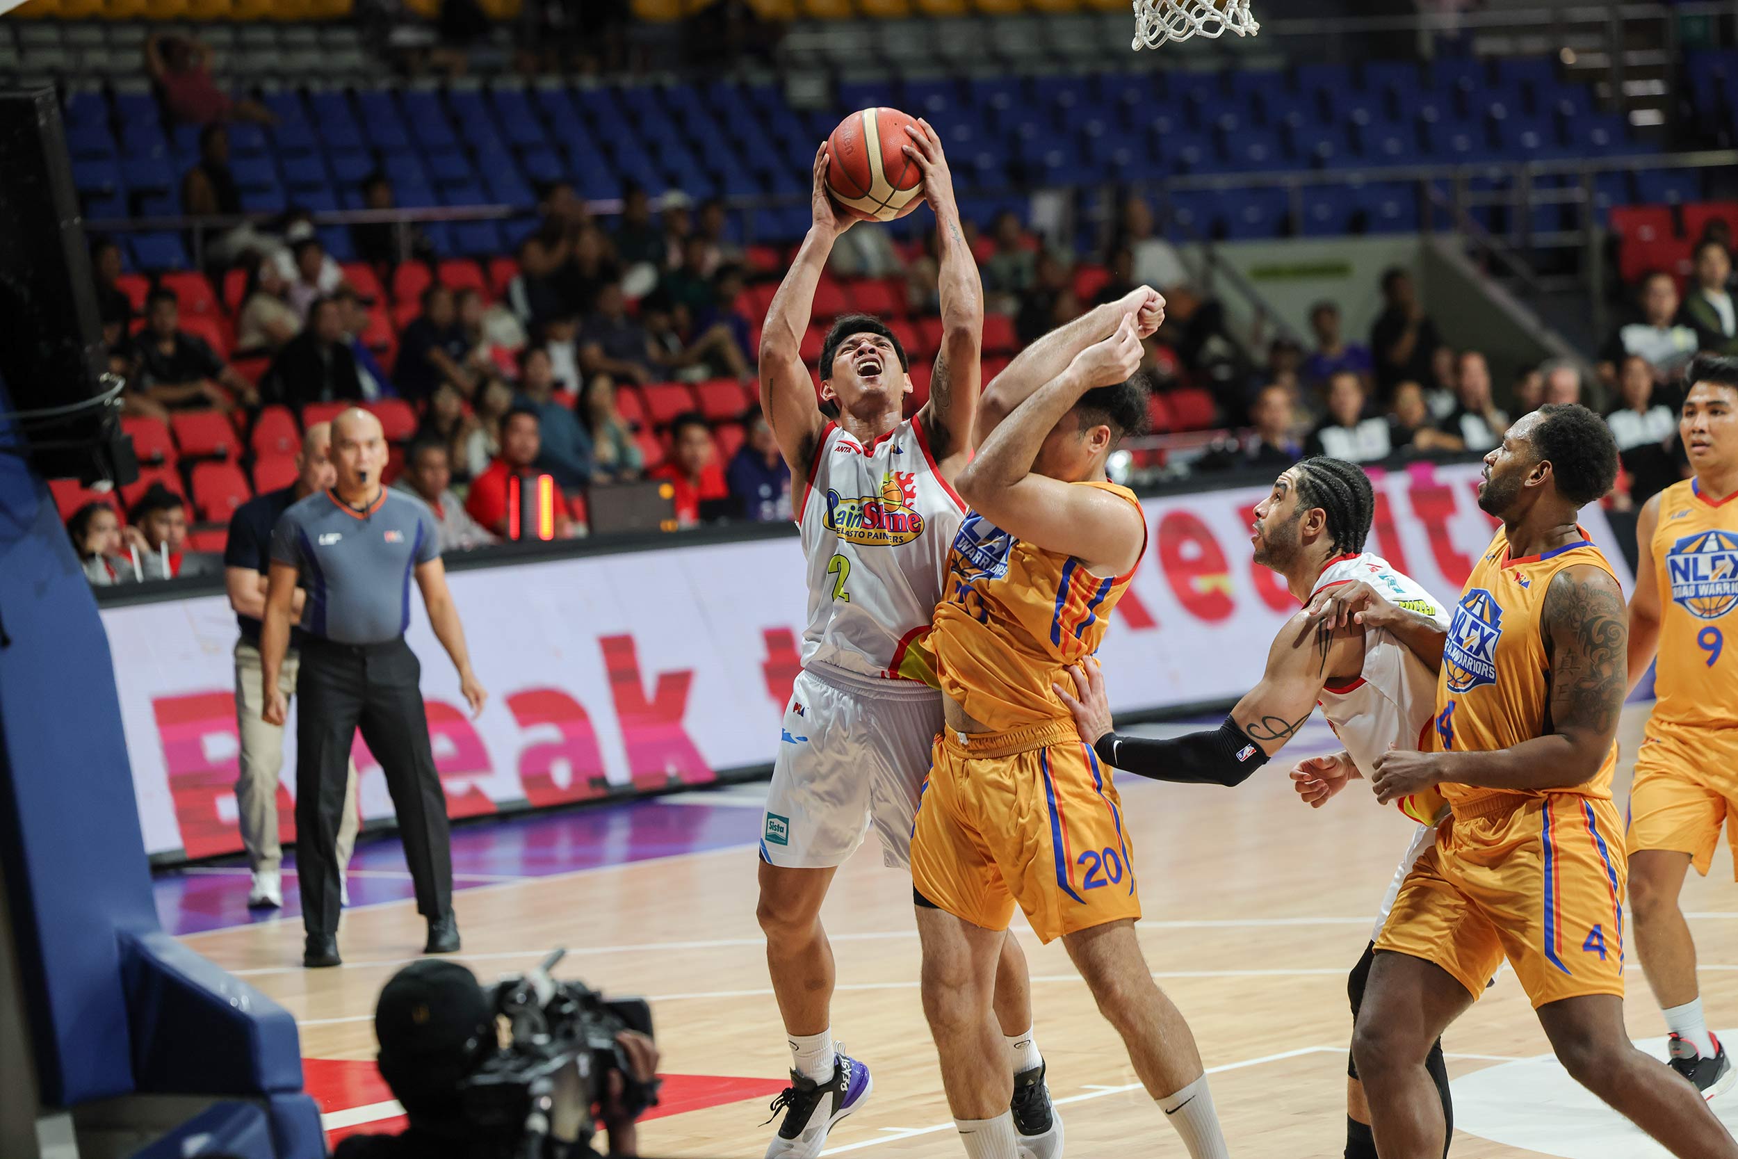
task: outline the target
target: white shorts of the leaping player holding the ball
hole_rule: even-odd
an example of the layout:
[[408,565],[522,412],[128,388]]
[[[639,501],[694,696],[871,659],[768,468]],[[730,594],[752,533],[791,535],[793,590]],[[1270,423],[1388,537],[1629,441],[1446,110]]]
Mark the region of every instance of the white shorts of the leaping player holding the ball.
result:
[[881,836],[888,867],[911,865],[911,827],[942,730],[926,685],[805,669],[784,711],[760,855],[787,869],[834,869]]

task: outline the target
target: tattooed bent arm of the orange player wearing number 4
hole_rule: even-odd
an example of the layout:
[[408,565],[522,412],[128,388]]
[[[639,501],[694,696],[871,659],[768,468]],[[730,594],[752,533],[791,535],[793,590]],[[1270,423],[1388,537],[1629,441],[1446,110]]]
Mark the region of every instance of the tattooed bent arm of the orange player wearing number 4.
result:
[[1389,752],[1371,777],[1378,801],[1444,780],[1484,789],[1573,789],[1599,773],[1629,692],[1623,591],[1602,568],[1564,568],[1545,593],[1540,629],[1550,660],[1550,732],[1489,752]]

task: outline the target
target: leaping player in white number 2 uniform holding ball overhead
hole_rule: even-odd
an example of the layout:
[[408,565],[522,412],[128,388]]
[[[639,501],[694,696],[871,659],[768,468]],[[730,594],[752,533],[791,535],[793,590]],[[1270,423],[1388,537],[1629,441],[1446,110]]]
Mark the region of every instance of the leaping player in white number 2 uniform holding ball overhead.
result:
[[[834,964],[820,904],[871,825],[885,864],[909,864],[930,742],[942,726],[940,693],[902,678],[900,667],[907,643],[930,626],[947,546],[965,516],[952,480],[972,454],[984,294],[940,139],[926,123],[909,137],[904,155],[921,170],[940,248],[942,349],[930,400],[902,419],[912,389],[905,351],[879,320],[852,315],[833,323],[820,354],[820,398],[838,419],[815,405],[798,351],[827,255],[853,224],[827,191],[827,144],[815,153],[813,226],[761,337],[761,407],[801,495],[808,561],[803,671],[784,714],[760,843],[758,914],[793,1055],[791,1086],[773,1102],[784,1121],[766,1159],[819,1156],[827,1131],[869,1096],[869,1069],[833,1041]],[[1005,937],[996,961],[1005,1034],[996,1058],[1003,1081],[1013,1077],[1001,1107],[1012,1105],[1025,1154],[1053,1159],[1060,1119],[1032,1039],[1025,957]]]

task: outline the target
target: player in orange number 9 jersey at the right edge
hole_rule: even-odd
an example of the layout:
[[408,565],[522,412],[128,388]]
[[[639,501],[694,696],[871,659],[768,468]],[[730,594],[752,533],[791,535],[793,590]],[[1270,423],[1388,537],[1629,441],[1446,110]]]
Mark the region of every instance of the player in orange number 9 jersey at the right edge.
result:
[[[1635,954],[1665,1011],[1670,1065],[1705,1098],[1738,1081],[1708,1030],[1696,944],[1677,905],[1691,865],[1707,876],[1721,824],[1738,874],[1738,358],[1698,358],[1684,375],[1677,434],[1693,478],[1649,499],[1630,598],[1629,683],[1658,653],[1655,692],[1630,785],[1630,907]],[[1670,603],[1667,603],[1667,599]]]

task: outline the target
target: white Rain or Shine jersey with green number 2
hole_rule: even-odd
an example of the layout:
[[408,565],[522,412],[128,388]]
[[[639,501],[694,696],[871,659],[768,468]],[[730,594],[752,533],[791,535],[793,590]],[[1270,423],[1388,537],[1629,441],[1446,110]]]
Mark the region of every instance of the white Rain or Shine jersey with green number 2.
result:
[[935,615],[965,511],[918,419],[869,447],[829,422],[796,516],[808,558],[803,667],[893,678]]

